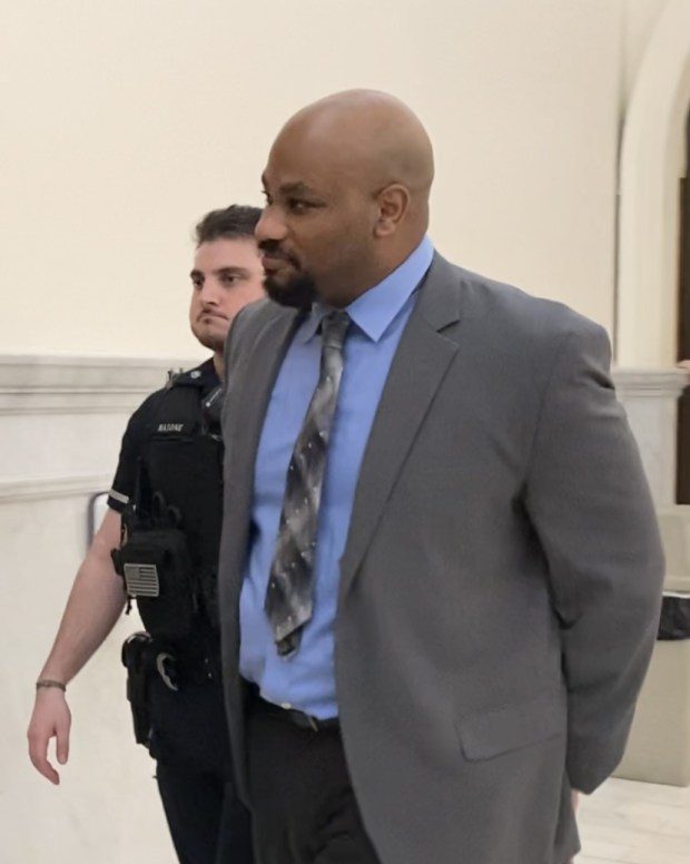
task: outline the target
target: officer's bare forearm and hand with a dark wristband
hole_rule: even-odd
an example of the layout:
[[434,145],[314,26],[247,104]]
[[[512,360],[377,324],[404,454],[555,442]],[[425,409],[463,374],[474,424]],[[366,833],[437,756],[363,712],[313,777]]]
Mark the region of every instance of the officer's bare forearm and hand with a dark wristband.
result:
[[[68,684],[95,654],[119,618],[125,593],[110,550],[120,542],[120,514],[108,510],[75,578],[60,628],[39,678]],[[56,738],[60,765],[69,753],[70,713],[62,690],[40,688],[28,729],[29,756],[36,769],[56,785],[58,773],[48,762]]]

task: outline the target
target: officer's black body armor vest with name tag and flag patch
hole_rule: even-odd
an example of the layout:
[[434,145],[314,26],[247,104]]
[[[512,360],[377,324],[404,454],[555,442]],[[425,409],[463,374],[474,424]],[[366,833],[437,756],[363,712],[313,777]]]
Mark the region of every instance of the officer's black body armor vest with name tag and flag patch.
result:
[[[168,383],[147,428],[134,507],[124,520],[130,540],[120,550],[128,591],[147,630],[180,642],[188,636],[194,640],[199,628],[207,634],[219,629],[223,443],[219,426],[204,411],[208,386],[203,369]],[[128,564],[128,559],[139,560],[140,550],[148,562]],[[138,580],[134,591],[128,566]],[[150,573],[154,587],[147,588]]]

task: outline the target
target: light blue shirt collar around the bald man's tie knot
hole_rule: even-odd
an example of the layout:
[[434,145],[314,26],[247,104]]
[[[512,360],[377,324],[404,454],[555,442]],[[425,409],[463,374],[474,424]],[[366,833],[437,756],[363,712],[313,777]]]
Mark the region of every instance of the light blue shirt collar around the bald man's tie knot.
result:
[[[424,237],[400,267],[345,307],[353,322],[372,342],[378,342],[410,300],[413,291],[428,269],[433,256],[432,242],[428,237]],[[313,305],[312,312],[302,326],[299,334],[302,342],[308,342],[316,335],[323,317],[328,312],[331,308],[322,303]]]

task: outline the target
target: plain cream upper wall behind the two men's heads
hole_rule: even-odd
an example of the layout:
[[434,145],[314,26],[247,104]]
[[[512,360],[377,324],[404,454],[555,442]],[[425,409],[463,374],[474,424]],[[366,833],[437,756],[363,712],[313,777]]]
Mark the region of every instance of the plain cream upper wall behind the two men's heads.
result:
[[0,351],[193,354],[195,218],[258,204],[279,124],[352,86],[428,126],[442,252],[610,327],[622,10],[3,0]]

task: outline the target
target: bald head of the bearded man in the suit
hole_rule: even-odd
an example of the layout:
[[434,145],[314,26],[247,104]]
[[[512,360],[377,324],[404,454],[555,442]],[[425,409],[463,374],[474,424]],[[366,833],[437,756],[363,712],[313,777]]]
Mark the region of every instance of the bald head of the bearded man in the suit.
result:
[[373,287],[422,240],[433,175],[428,136],[400,99],[347,90],[303,108],[280,130],[264,175],[268,206],[257,236],[274,253],[265,262],[269,293],[288,302],[307,276],[307,295],[347,305]]

